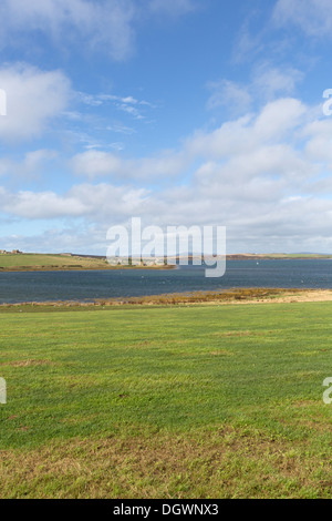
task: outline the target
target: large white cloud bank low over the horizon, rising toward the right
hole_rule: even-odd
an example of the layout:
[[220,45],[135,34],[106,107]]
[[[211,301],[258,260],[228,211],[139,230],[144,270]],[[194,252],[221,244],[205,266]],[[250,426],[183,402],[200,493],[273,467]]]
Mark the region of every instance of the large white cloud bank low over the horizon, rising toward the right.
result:
[[[107,227],[132,216],[142,216],[144,225],[226,225],[229,252],[329,251],[331,135],[332,120],[299,100],[281,99],[219,129],[197,132],[178,151],[158,156],[77,154],[72,160],[77,174],[116,176],[116,183],[87,182],[65,194],[2,188],[0,206],[25,223],[65,218],[74,229],[83,221],[85,228],[72,236],[72,244],[85,252],[104,253]],[[185,167],[193,175],[186,182],[181,176],[181,185],[145,187]],[[135,186],[127,180],[135,180]],[[93,228],[90,235],[87,227]],[[59,232],[59,249],[69,249],[68,237]]]

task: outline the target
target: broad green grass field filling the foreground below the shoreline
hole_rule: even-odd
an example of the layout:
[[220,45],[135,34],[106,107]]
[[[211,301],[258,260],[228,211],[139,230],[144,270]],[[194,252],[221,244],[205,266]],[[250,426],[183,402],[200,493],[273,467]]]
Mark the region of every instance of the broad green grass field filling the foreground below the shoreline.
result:
[[331,315],[0,313],[0,497],[331,498]]

